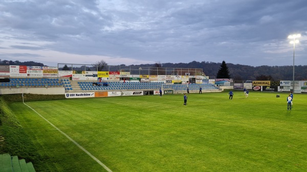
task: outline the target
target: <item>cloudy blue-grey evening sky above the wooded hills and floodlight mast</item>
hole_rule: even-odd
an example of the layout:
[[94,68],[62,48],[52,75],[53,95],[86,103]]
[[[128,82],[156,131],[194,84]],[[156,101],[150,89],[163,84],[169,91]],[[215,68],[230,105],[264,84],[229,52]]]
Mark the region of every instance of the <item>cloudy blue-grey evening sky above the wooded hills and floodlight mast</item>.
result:
[[306,0],[1,0],[0,59],[307,65]]

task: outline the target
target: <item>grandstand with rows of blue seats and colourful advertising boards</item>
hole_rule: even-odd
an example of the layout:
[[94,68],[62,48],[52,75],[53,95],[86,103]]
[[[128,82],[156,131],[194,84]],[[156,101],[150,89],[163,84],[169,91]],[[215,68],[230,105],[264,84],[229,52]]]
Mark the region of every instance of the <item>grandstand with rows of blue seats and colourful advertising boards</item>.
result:
[[[200,87],[204,92],[221,91],[213,84],[203,82],[207,78],[202,69],[109,66],[108,71],[75,71],[58,70],[59,67],[28,66],[27,70],[21,66],[11,67],[12,70],[6,72],[7,76],[1,76],[10,80],[0,83],[0,94],[157,91],[160,88],[172,93],[183,93],[187,87],[191,93],[198,92]],[[73,65],[71,68],[76,69]]]

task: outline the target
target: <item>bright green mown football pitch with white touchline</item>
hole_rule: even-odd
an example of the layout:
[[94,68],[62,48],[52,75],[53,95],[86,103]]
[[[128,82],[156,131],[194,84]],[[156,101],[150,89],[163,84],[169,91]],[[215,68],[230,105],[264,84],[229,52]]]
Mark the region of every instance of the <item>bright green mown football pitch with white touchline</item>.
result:
[[[280,94],[280,97],[276,97]],[[112,171],[306,171],[307,95],[228,92],[25,102]],[[106,171],[32,109],[10,103],[37,171]]]

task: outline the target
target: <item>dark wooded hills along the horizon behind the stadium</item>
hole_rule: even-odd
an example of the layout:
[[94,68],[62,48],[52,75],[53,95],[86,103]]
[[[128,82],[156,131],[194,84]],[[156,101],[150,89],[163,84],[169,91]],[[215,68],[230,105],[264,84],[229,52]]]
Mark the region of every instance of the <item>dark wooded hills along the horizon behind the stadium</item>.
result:
[[[155,64],[141,64],[141,65],[128,65],[128,66],[144,66],[144,67],[171,67],[171,68],[202,68],[203,72],[210,79],[214,79],[217,75],[218,69],[221,68],[221,63],[214,62],[196,62],[190,63],[155,63]],[[235,81],[257,80],[257,78],[268,77],[270,80],[293,80],[293,66],[249,66],[227,63],[230,78]],[[42,63],[33,61],[19,62],[3,60],[0,65],[27,65],[27,66],[46,66]],[[126,66],[121,64],[120,66]],[[83,68],[80,68],[83,70]],[[96,69],[96,68],[95,68]],[[86,69],[87,70],[87,69]],[[89,68],[89,70],[91,70]],[[94,69],[93,69],[94,70]],[[307,80],[307,66],[295,66],[295,80]]]

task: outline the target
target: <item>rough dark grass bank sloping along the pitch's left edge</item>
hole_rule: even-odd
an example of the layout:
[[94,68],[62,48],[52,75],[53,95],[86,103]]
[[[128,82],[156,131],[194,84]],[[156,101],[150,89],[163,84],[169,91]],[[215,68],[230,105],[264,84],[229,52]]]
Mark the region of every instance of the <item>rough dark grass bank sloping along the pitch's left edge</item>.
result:
[[[38,95],[24,94],[25,101],[42,101],[42,100],[60,100],[64,99],[63,95]],[[19,159],[25,159],[32,162],[36,171],[43,169],[48,171],[44,166],[45,161],[36,150],[31,138],[26,134],[24,127],[20,124],[15,114],[9,108],[7,102],[22,102],[21,94],[6,94],[0,96],[0,154],[10,154],[18,156]],[[41,165],[37,165],[41,164]]]

